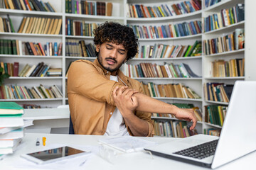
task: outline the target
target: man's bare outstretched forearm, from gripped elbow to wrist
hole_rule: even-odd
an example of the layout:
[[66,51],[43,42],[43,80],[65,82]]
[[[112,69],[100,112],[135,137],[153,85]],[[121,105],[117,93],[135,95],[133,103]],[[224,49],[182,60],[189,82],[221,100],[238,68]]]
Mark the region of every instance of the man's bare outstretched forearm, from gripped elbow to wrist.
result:
[[156,100],[144,94],[134,94],[138,100],[137,111],[144,111],[149,113],[163,113],[163,114],[174,114],[178,113],[178,107],[164,103],[163,101]]

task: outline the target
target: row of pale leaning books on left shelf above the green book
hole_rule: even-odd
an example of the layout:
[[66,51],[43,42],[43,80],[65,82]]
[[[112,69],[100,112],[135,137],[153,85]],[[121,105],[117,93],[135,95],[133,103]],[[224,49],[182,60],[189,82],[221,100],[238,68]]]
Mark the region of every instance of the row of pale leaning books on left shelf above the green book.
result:
[[53,85],[46,89],[42,84],[33,86],[1,85],[1,99],[32,99],[32,98],[62,98],[63,94],[58,86]]

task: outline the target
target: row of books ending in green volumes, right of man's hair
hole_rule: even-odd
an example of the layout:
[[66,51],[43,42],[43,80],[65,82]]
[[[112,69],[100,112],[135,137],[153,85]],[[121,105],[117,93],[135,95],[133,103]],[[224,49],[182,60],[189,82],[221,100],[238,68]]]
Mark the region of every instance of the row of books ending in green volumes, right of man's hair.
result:
[[137,58],[176,58],[191,57],[202,54],[201,41],[194,42],[193,45],[142,45]]

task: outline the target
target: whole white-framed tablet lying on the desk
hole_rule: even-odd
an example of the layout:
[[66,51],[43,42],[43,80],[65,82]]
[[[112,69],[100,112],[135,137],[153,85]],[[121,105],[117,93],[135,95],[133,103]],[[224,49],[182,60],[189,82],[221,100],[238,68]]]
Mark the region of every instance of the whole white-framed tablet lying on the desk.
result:
[[47,149],[40,152],[21,154],[21,157],[28,159],[31,162],[35,162],[36,164],[48,164],[50,162],[82,156],[87,153],[90,153],[90,151],[82,151],[73,147],[65,146]]

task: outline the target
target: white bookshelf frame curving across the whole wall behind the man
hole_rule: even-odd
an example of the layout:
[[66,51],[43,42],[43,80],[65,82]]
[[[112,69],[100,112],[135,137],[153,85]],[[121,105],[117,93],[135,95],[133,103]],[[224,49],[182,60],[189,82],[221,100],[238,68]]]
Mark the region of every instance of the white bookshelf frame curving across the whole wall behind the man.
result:
[[[43,0],[46,2],[46,0]],[[105,1],[108,2],[108,1]],[[196,35],[187,35],[181,37],[173,37],[173,38],[139,38],[140,47],[142,45],[154,45],[156,44],[166,44],[166,45],[193,45],[193,43],[198,40],[208,40],[212,38],[218,38],[225,34],[233,32],[237,28],[245,28],[245,33],[253,34],[250,37],[246,37],[246,41],[254,42],[253,36],[254,30],[253,27],[247,26],[248,22],[241,21],[239,23],[234,23],[230,26],[211,30],[208,32],[203,31],[203,18],[208,15],[212,15],[213,13],[220,12],[223,8],[230,8],[235,6],[236,4],[242,3],[245,4],[246,13],[250,13],[250,16],[253,16],[254,9],[252,6],[255,6],[255,2],[246,1],[245,0],[223,0],[218,4],[213,6],[209,6],[206,8],[204,6],[204,0],[202,0],[202,9],[199,11],[194,11],[192,13],[185,13],[177,16],[166,16],[166,17],[156,17],[156,18],[131,18],[128,16],[127,4],[143,4],[144,6],[160,6],[161,4],[177,4],[182,1],[139,1],[139,0],[112,0],[110,1],[113,4],[112,16],[93,16],[93,15],[85,15],[85,14],[75,14],[75,13],[65,13],[65,1],[64,0],[56,0],[50,1],[50,4],[55,8],[55,13],[53,12],[42,12],[42,11],[22,11],[16,9],[3,9],[0,10],[0,16],[5,17],[9,14],[11,20],[14,24],[14,28],[17,32],[18,27],[21,23],[21,20],[24,16],[33,16],[33,17],[46,17],[46,18],[61,18],[62,19],[62,31],[59,35],[41,35],[41,34],[28,34],[28,33],[0,33],[0,39],[11,39],[11,40],[23,40],[29,42],[41,42],[45,44],[46,42],[63,42],[62,54],[61,56],[35,56],[35,55],[0,55],[1,62],[19,62],[20,69],[26,63],[29,64],[37,64],[38,62],[45,62],[46,64],[51,64],[51,66],[55,68],[63,69],[62,77],[10,77],[6,79],[5,84],[17,84],[17,85],[26,85],[26,86],[39,86],[39,84],[43,84],[44,86],[52,86],[53,84],[57,85],[62,93],[63,98],[44,98],[44,99],[15,99],[15,100],[4,100],[0,101],[16,101],[19,104],[36,104],[41,105],[42,108],[45,107],[57,107],[59,105],[67,104],[68,98],[65,96],[65,82],[67,78],[65,77],[66,69],[68,69],[68,65],[70,62],[75,60],[95,60],[96,57],[70,57],[65,55],[65,42],[66,40],[85,40],[86,43],[93,43],[93,37],[90,36],[80,36],[80,35],[65,35],[65,21],[66,19],[72,19],[76,21],[85,21],[85,23],[103,23],[105,21],[116,21],[119,23],[127,24],[129,26],[138,25],[138,26],[161,26],[165,24],[178,24],[183,22],[190,21],[202,21],[202,33],[198,33]],[[248,10],[247,10],[248,8]],[[245,13],[245,18],[249,16]],[[252,22],[252,21],[250,21]],[[253,22],[252,22],[253,23]],[[255,23],[253,23],[255,24]],[[248,32],[247,32],[248,31]],[[151,62],[154,64],[164,64],[173,63],[173,64],[181,64],[186,63],[191,66],[193,72],[198,74],[199,78],[146,78],[146,77],[137,77],[138,81],[142,81],[144,83],[153,82],[154,84],[184,84],[186,86],[191,87],[196,94],[201,96],[200,99],[193,98],[163,98],[157,97],[164,102],[169,103],[193,103],[194,106],[198,106],[203,111],[203,120],[204,120],[204,106],[206,105],[221,105],[228,106],[226,102],[220,101],[209,101],[204,98],[204,89],[203,84],[208,82],[218,82],[225,84],[234,84],[237,80],[253,80],[255,78],[255,70],[253,69],[255,66],[255,59],[252,57],[246,57],[245,60],[245,76],[242,77],[210,77],[209,74],[209,65],[210,62],[214,60],[231,60],[236,57],[245,58],[245,55],[253,56],[253,43],[247,43],[245,49],[232,50],[228,52],[215,53],[211,55],[206,55],[202,53],[200,56],[193,57],[176,57],[176,58],[134,58],[129,61],[128,64],[139,64],[141,62]],[[139,49],[140,50],[140,49]],[[254,57],[255,58],[255,57]],[[167,119],[167,120],[175,120],[174,118],[155,118],[152,119]],[[189,123],[188,123],[189,124]],[[205,128],[217,128],[221,129],[218,125],[212,125],[210,123],[199,122],[196,129],[198,133],[203,133],[203,129]]]

